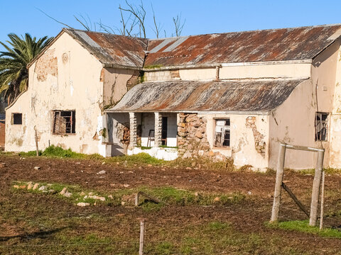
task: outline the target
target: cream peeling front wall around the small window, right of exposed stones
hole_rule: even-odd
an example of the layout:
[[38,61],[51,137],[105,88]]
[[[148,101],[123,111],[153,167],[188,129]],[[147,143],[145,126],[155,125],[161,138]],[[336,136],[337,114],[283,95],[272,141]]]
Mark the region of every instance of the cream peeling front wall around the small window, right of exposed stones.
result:
[[[225,157],[232,157],[236,166],[251,165],[256,169],[264,170],[269,163],[269,115],[237,115],[237,114],[198,114],[207,120],[207,140],[212,152],[220,152]],[[214,147],[215,119],[229,118],[230,146],[227,148]],[[256,142],[259,137],[254,135],[253,128],[248,125],[249,120],[261,134],[264,143],[264,153],[259,152]]]

